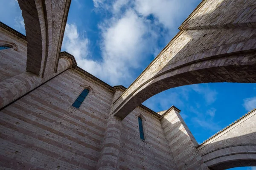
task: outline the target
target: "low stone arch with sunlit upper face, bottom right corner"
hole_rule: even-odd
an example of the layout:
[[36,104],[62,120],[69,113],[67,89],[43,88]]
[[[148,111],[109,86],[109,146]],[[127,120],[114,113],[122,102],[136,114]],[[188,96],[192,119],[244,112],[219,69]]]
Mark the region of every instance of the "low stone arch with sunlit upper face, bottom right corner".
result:
[[256,165],[256,110],[201,144],[198,152],[212,170]]

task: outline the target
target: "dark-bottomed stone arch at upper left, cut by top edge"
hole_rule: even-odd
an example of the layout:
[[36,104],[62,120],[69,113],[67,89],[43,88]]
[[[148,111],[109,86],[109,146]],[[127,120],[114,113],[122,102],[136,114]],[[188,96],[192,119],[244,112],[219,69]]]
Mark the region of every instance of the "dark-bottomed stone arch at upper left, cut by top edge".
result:
[[57,71],[70,2],[64,0],[52,6],[52,3],[58,2],[18,0],[26,30],[26,71],[40,77]]

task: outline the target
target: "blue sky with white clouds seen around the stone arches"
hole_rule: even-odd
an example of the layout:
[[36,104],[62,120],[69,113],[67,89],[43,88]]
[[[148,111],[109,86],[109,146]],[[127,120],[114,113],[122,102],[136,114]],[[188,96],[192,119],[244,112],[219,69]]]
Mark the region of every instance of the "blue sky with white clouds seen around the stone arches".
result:
[[[62,51],[73,54],[79,67],[110,85],[128,87],[200,2],[72,0]],[[17,1],[0,3],[0,21],[25,34]],[[175,105],[201,143],[256,108],[256,84],[183,86],[157,94],[143,104],[157,112]]]

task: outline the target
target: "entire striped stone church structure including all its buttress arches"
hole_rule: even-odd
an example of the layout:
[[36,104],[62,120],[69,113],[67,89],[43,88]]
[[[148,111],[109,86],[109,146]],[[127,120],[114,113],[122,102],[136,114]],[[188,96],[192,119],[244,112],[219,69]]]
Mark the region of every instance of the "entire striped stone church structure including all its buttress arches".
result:
[[[179,109],[156,113],[140,105],[181,85],[255,82],[253,0],[203,0],[127,90],[77,67],[71,54],[59,53],[70,0],[18,1],[27,37],[0,23],[0,45],[12,47],[0,50],[0,169],[256,166],[256,111],[197,146]],[[84,102],[72,107],[84,88],[90,91]]]

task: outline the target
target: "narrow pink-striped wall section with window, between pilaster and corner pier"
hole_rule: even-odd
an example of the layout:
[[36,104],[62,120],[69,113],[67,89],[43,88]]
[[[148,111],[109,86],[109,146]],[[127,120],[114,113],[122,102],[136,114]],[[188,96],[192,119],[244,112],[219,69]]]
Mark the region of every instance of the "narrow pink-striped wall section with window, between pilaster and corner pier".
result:
[[[143,119],[145,141],[140,139],[138,116]],[[122,120],[120,170],[175,170],[175,163],[160,120],[136,108]]]

